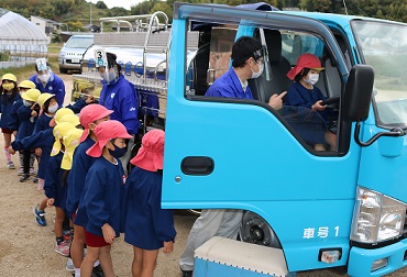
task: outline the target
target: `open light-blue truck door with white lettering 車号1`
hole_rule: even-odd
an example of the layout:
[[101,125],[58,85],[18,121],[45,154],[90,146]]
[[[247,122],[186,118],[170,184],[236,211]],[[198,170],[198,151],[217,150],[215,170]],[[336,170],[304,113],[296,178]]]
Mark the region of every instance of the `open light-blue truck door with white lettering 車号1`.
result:
[[350,143],[351,125],[340,117],[340,100],[337,147],[315,151],[300,131],[318,122],[311,111],[276,111],[268,99],[196,96],[186,89],[185,77],[187,30],[194,23],[228,25],[239,30],[238,36],[266,29],[279,32],[280,56],[292,66],[305,52],[330,55],[339,87],[326,93],[341,98],[348,68],[332,34],[320,22],[273,12],[176,3],[174,14],[163,208],[252,211],[274,230],[290,272],[326,267],[318,261],[322,247],[341,248],[334,265],[344,265],[360,148]]

